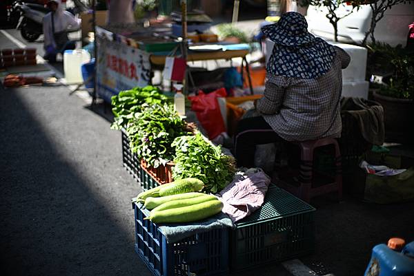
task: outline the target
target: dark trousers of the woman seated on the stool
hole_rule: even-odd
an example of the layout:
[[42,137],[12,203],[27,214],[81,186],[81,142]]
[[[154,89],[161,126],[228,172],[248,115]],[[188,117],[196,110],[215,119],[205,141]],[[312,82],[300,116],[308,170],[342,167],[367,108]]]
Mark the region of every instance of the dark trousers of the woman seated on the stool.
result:
[[237,124],[235,158],[238,167],[254,167],[256,145],[282,140],[262,116],[246,118]]

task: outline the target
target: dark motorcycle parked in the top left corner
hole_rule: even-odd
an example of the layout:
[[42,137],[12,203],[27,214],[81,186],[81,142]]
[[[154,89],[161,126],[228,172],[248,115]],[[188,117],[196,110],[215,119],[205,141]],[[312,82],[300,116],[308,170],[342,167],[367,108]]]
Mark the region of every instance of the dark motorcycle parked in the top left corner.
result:
[[49,8],[36,3],[14,2],[14,10],[19,10],[21,16],[17,29],[26,41],[33,42],[43,34],[43,17],[50,12]]

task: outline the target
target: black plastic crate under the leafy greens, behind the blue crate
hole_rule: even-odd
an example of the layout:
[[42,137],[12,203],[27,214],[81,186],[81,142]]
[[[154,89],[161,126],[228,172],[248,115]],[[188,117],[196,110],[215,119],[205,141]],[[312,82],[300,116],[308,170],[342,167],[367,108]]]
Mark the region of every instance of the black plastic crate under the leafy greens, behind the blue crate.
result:
[[144,189],[152,189],[159,185],[159,182],[152,178],[140,165],[137,153],[132,153],[130,140],[124,129],[121,130],[122,140],[122,162],[126,170],[137,180]]

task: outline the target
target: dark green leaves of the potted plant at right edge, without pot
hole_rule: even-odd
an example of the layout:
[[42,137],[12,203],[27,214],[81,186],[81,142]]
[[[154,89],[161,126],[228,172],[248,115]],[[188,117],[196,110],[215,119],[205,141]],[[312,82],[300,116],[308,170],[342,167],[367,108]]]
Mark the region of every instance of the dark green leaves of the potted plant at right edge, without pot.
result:
[[377,70],[384,67],[386,72],[391,72],[388,81],[384,81],[386,85],[380,88],[380,94],[414,100],[414,52],[401,45],[391,47],[386,43],[367,47],[368,66]]

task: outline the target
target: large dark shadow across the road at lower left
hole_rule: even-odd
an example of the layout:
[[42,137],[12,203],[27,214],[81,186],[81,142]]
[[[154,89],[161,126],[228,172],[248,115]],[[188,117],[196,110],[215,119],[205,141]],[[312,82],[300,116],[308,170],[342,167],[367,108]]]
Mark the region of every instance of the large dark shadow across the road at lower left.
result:
[[0,98],[1,275],[149,275],[133,229],[57,149],[39,112],[14,90]]

